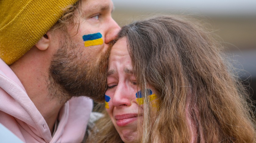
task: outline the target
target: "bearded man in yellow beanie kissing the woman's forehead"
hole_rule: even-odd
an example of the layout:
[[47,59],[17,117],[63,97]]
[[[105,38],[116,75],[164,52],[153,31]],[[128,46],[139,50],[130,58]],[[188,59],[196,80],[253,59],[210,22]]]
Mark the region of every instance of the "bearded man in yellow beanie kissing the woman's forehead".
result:
[[113,3],[76,1],[0,1],[0,123],[24,142],[81,142],[105,90]]

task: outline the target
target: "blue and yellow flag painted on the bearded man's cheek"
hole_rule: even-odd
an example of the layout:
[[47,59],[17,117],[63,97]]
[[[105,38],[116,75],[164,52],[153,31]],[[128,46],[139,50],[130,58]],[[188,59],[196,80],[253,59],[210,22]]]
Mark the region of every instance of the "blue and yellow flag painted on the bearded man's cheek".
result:
[[103,44],[101,33],[88,34],[83,36],[84,46],[95,46]]

